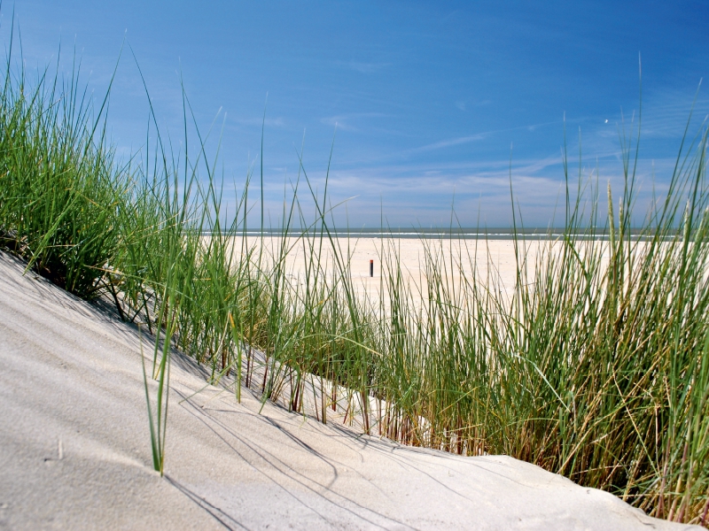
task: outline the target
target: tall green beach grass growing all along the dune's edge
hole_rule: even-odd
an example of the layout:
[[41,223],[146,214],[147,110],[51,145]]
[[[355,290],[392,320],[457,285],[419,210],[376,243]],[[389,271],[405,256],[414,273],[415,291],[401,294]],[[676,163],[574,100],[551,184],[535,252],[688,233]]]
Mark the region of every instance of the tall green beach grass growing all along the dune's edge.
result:
[[[621,135],[619,195],[567,170],[562,236],[535,242],[533,256],[515,219],[512,289],[494,267],[480,273],[480,251],[492,263],[487,239],[465,240],[451,223],[455,246],[422,237],[420,282],[407,281],[394,235],[383,239],[378,296],[362,295],[327,187],[318,195],[302,162],[277,237],[263,236],[263,213],[261,236],[247,237],[254,175],[227,216],[206,139],[187,133],[186,97],[184,151],[163,142],[153,117],[155,143],[121,163],[105,134],[107,95],[92,102],[78,67],[68,81],[51,72],[27,80],[8,56],[0,238],[28,268],[77,296],[109,297],[121,319],[157,338],[144,365],[156,470],[175,347],[211,381],[234,378],[323,422],[344,399],[349,421],[371,435],[507,454],[658,518],[706,523],[705,127],[685,134],[669,187],[640,226],[631,225],[636,139]],[[257,177],[262,185],[262,169]],[[255,203],[263,212],[262,196]],[[513,205],[510,185],[515,215]],[[304,258],[293,281],[286,258],[296,245]]]

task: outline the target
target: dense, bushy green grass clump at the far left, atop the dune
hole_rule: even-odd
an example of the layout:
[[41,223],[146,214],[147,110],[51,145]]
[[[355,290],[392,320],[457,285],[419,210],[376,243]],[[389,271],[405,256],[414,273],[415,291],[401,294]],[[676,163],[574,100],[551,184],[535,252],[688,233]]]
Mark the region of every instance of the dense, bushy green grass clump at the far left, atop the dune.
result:
[[0,91],[0,238],[38,273],[97,295],[118,241],[119,173],[77,76],[29,82],[9,56]]

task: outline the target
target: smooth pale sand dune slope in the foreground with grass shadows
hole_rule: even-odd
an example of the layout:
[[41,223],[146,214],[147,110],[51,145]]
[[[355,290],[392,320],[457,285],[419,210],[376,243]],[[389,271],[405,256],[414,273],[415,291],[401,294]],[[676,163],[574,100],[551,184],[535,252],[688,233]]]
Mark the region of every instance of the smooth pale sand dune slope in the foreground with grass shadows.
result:
[[259,414],[248,391],[192,396],[204,377],[178,355],[160,479],[136,330],[21,271],[0,253],[0,527],[675,527],[512,458]]

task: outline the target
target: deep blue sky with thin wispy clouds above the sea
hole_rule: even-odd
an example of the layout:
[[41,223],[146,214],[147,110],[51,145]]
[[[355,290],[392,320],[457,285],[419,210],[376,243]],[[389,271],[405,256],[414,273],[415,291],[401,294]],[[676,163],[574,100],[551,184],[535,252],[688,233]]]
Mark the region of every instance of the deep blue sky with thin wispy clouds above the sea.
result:
[[[263,126],[272,223],[302,153],[321,196],[330,168],[340,227],[447,226],[452,208],[464,227],[509,226],[510,182],[526,226],[558,225],[563,146],[573,182],[580,173],[619,194],[619,132],[635,138],[641,102],[644,212],[709,74],[705,0],[16,0],[0,12],[5,49],[13,17],[26,68],[56,62],[61,48],[69,73],[76,50],[96,105],[118,65],[108,125],[119,157],[154,135],[139,72],[175,150],[183,90],[202,135],[214,124],[206,148],[211,158],[219,147],[227,204],[250,169],[259,195]],[[690,136],[709,112],[707,89]]]

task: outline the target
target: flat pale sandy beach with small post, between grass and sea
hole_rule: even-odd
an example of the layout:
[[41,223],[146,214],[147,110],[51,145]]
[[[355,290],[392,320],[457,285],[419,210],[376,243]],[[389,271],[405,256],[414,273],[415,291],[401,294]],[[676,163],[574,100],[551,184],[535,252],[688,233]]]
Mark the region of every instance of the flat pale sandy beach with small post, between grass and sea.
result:
[[[412,290],[415,299],[427,298],[426,289],[431,271],[426,265],[435,266],[451,286],[476,281],[490,289],[498,289],[510,296],[517,281],[518,262],[515,242],[507,239],[479,238],[417,238],[327,235],[313,237],[279,237],[266,235],[233,238],[232,250],[238,257],[242,249],[253,249],[253,259],[263,250],[263,261],[271,266],[287,250],[283,260],[283,272],[293,286],[306,280],[308,270],[314,270],[310,259],[319,258],[317,268],[323,278],[331,280],[333,274],[346,270],[347,279],[361,300],[370,304],[387,301],[389,295],[386,280],[401,276],[403,285]],[[519,260],[526,259],[529,273],[534,273],[535,261],[548,252],[555,243],[549,240],[532,239],[519,243]],[[335,250],[333,252],[333,250]],[[553,251],[552,251],[553,252]],[[276,259],[274,258],[276,257]],[[370,261],[372,274],[370,276]],[[347,267],[343,265],[347,264]],[[473,270],[475,270],[473,272]]]

